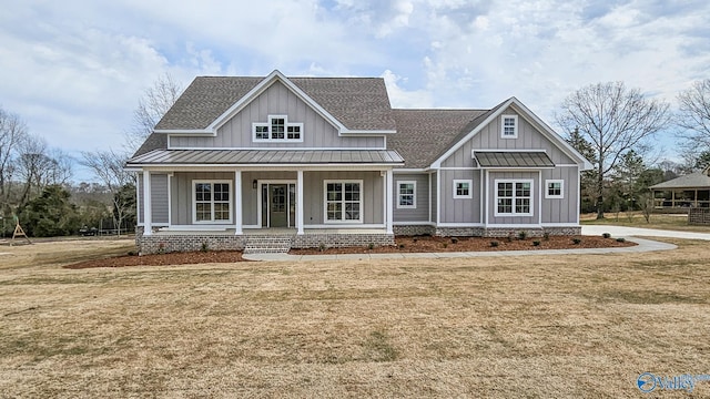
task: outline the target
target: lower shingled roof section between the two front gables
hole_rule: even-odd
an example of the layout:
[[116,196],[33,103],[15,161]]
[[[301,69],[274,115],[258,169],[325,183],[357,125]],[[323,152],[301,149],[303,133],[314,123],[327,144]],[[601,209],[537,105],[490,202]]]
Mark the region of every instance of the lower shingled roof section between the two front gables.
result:
[[387,137],[407,168],[427,167],[445,152],[456,137],[469,133],[474,121],[483,120],[486,110],[393,110],[397,133]]

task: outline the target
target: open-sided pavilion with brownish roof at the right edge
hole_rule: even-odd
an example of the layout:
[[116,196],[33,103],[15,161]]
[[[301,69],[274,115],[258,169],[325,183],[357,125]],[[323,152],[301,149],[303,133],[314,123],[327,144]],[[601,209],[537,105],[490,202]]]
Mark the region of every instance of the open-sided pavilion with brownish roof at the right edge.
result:
[[653,206],[668,208],[710,208],[710,166],[668,182],[650,186]]

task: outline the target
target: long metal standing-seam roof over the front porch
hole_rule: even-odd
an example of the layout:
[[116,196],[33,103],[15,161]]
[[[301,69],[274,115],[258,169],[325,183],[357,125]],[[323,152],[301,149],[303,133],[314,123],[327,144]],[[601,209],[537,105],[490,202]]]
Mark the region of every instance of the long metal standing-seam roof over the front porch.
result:
[[141,165],[307,165],[403,164],[392,150],[153,150],[126,166]]

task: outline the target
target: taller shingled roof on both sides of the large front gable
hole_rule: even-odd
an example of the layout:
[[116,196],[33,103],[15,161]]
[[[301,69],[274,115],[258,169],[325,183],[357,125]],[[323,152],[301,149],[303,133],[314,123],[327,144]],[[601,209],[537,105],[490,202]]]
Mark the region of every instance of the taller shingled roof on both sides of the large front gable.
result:
[[[264,79],[197,76],[155,130],[205,129]],[[387,89],[381,78],[288,78],[288,81],[349,130],[395,130]]]

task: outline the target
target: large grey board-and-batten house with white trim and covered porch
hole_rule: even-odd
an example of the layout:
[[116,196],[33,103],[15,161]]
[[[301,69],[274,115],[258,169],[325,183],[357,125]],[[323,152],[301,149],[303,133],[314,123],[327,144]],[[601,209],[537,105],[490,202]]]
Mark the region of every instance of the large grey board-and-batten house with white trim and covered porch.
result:
[[128,161],[141,253],[579,234],[591,165],[517,99],[392,109],[382,79],[196,78]]

